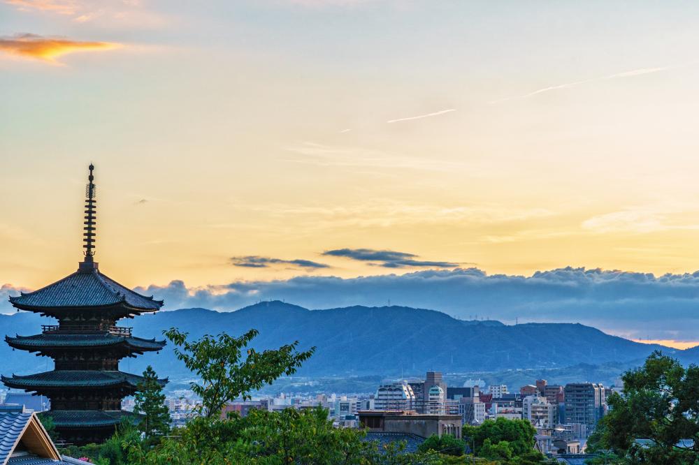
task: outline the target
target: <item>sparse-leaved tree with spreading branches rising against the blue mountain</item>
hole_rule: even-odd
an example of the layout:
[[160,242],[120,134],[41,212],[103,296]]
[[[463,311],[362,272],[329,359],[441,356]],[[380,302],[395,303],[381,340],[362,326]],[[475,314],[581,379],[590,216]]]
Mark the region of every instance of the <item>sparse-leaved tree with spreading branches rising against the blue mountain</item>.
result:
[[[164,334],[175,344],[175,355],[201,378],[202,384],[192,383],[192,390],[202,399],[202,411],[208,418],[220,415],[226,402],[242,397],[272,383],[282,374],[291,375],[315,352],[315,347],[298,352],[298,341],[277,350],[258,352],[247,348],[259,334],[250,330],[240,337],[206,334],[193,342],[187,333],[171,328]],[[243,349],[246,355],[243,358]]]

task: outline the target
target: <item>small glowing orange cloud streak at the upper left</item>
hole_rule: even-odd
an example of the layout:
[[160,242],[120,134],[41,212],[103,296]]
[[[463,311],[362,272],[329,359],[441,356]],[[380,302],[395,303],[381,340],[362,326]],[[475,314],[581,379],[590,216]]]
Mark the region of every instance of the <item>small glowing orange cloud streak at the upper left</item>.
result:
[[50,38],[36,34],[19,34],[12,37],[0,37],[0,52],[6,52],[20,57],[41,59],[56,62],[58,57],[73,52],[89,52],[95,50],[112,50],[121,47],[117,43],[81,42],[67,38]]

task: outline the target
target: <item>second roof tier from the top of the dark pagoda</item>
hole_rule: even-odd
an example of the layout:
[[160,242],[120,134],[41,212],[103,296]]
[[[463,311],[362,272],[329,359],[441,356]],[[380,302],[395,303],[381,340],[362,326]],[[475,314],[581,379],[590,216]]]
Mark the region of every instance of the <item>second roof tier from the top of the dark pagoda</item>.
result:
[[106,347],[123,344],[134,350],[160,350],[165,341],[124,337],[115,334],[35,334],[34,336],[5,337],[11,347],[41,350],[52,347]]

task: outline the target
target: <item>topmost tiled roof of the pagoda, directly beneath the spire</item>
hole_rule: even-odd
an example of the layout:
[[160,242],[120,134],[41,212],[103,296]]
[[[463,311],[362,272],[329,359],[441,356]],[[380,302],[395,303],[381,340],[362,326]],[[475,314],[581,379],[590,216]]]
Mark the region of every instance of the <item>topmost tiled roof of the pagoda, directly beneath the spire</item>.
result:
[[33,293],[10,297],[10,302],[21,309],[39,310],[125,304],[140,311],[154,311],[163,305],[161,300],[135,293],[96,269],[75,272]]

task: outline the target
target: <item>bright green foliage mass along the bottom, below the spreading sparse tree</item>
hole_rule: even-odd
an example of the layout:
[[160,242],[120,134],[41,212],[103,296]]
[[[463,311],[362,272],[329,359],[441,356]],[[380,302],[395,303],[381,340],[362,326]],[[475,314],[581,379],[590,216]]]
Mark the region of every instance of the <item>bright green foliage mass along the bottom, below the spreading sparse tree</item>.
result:
[[[466,456],[434,450],[405,453],[403,443],[380,448],[366,432],[336,428],[324,408],[252,410],[247,417],[196,418],[152,450],[128,444],[129,460],[143,465],[446,465]],[[177,436],[177,437],[174,437]],[[479,460],[479,464],[485,462]]]

